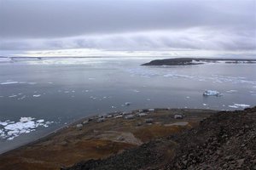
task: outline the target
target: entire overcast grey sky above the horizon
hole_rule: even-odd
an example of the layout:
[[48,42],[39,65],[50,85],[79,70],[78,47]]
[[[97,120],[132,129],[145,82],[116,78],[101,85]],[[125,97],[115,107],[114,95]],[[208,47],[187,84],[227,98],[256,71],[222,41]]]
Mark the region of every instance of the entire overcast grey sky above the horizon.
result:
[[255,0],[0,0],[0,50],[252,54],[255,11]]

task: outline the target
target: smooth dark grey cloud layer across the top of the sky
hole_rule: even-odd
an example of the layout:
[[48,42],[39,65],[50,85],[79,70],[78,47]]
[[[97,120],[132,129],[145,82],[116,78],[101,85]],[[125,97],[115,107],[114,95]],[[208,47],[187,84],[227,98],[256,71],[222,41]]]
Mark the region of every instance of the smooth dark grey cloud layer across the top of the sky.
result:
[[255,28],[255,1],[1,0],[0,37],[72,37],[194,26]]

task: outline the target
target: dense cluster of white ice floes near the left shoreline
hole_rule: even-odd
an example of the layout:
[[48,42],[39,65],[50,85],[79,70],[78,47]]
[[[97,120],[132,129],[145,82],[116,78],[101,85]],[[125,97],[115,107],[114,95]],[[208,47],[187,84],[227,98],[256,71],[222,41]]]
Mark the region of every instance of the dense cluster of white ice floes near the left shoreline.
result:
[[22,133],[31,133],[37,127],[49,127],[53,122],[44,122],[44,119],[36,120],[33,117],[20,117],[19,122],[0,122],[0,139],[12,140]]

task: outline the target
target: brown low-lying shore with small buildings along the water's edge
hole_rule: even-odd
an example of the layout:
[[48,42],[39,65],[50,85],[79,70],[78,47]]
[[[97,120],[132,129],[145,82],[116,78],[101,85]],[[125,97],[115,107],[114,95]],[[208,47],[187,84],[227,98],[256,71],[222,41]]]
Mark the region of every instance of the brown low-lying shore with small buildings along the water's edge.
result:
[[149,109],[87,117],[0,156],[0,169],[60,169],[131,150],[199,123],[218,111]]

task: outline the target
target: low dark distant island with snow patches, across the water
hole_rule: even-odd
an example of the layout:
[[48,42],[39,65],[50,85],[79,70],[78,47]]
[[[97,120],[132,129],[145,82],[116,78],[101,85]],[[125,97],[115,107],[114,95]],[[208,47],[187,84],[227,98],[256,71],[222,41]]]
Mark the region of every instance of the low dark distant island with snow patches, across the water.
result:
[[154,59],[143,65],[202,65],[206,63],[253,64],[253,63],[256,63],[256,59],[207,59],[207,58]]

